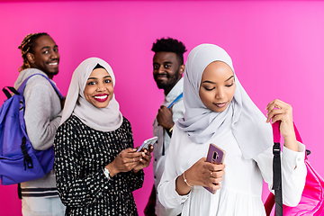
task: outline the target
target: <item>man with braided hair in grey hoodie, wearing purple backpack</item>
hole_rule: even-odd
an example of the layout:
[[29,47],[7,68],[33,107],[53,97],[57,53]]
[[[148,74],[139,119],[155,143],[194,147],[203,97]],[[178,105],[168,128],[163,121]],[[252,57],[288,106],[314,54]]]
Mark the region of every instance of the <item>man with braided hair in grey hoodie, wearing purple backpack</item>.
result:
[[[22,51],[23,66],[19,68],[15,88],[33,74],[48,76],[50,80],[58,74],[58,45],[47,33],[27,35],[18,49]],[[24,120],[32,147],[37,150],[50,148],[64,102],[43,76],[32,76],[25,85],[23,96]],[[65,206],[58,197],[54,170],[39,179],[22,183],[21,195],[23,216],[64,215]]]

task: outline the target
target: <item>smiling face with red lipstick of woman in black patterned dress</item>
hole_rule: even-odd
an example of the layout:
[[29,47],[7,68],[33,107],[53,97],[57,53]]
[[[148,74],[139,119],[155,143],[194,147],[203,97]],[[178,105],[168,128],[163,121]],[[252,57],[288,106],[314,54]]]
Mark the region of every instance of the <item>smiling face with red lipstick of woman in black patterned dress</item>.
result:
[[103,68],[94,69],[86,81],[84,94],[86,101],[95,107],[106,107],[113,95],[112,76]]

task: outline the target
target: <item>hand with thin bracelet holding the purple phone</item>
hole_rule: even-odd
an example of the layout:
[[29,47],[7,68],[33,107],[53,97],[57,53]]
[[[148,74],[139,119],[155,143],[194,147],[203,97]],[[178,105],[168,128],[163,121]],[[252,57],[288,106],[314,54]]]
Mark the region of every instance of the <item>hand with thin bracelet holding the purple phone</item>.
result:
[[[225,175],[223,164],[211,164],[206,162],[206,157],[202,157],[193,166],[184,171],[184,175],[179,176],[176,179],[175,190],[180,195],[184,195],[190,192],[193,185],[207,186],[212,190],[220,189],[220,182]],[[187,184],[184,182],[184,176]],[[189,186],[189,185],[190,186]]]

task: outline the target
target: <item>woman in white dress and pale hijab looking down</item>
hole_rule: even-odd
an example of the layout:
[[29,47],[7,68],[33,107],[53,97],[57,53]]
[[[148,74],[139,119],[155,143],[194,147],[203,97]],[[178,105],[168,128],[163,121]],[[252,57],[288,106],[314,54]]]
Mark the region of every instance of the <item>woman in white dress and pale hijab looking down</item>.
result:
[[[189,53],[184,107],[158,185],[163,205],[182,205],[182,216],[266,215],[261,193],[263,180],[272,187],[270,121],[282,121],[284,204],[298,204],[306,178],[305,148],[294,135],[292,107],[276,99],[267,105],[266,119],[240,85],[224,49],[202,44]],[[226,152],[223,164],[206,162],[211,143]]]

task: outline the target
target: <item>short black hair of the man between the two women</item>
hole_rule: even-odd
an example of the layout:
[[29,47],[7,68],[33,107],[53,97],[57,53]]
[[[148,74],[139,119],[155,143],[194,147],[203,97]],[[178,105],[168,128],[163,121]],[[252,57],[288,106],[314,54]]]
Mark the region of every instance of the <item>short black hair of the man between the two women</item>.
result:
[[153,43],[151,50],[155,53],[160,51],[175,52],[180,65],[184,64],[184,52],[186,52],[186,49],[184,43],[179,40],[161,38],[160,40],[157,40],[157,42]]

